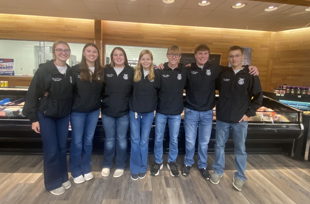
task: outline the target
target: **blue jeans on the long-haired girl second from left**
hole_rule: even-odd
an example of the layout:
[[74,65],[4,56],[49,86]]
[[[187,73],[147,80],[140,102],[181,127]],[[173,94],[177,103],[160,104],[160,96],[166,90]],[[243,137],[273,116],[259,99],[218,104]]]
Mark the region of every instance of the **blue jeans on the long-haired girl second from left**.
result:
[[72,140],[69,168],[73,178],[91,172],[91,151],[99,114],[100,109],[89,113],[70,113]]

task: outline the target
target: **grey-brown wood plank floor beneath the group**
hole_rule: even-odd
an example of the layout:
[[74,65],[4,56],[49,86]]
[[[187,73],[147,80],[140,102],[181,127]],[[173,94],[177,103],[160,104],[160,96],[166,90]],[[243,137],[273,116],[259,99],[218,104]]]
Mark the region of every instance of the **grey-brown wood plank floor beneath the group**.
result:
[[[183,158],[184,155],[178,156],[179,170]],[[208,156],[209,169],[214,158]],[[310,203],[308,161],[292,160],[286,155],[248,155],[248,181],[239,192],[232,186],[234,155],[225,156],[225,173],[217,185],[202,179],[196,165],[197,155],[194,159],[188,177],[171,177],[164,155],[164,168],[158,176],[151,176],[148,171],[144,179],[133,181],[129,157],[121,177],[113,178],[114,167],[104,178],[101,176],[103,155],[93,155],[94,178],[81,184],[73,183],[70,178],[71,188],[55,196],[44,188],[41,155],[0,155],[0,203]],[[153,162],[154,155],[149,155],[148,170]]]

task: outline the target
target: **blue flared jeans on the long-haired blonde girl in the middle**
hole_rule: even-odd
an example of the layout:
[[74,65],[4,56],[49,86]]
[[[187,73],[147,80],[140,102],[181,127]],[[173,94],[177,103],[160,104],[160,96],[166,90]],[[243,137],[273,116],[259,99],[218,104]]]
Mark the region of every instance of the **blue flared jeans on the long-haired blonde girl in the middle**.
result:
[[[148,169],[148,138],[154,120],[154,111],[149,113],[137,113],[129,111],[130,119],[130,173],[145,173]],[[140,129],[141,128],[141,129]]]

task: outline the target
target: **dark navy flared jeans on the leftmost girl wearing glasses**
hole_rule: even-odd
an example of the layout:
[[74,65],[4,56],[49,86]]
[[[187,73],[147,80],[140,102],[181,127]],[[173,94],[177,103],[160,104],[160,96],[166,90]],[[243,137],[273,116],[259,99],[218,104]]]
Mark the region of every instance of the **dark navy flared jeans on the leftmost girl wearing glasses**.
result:
[[43,141],[44,185],[47,191],[52,191],[69,180],[67,170],[69,115],[50,118],[38,111],[38,117]]

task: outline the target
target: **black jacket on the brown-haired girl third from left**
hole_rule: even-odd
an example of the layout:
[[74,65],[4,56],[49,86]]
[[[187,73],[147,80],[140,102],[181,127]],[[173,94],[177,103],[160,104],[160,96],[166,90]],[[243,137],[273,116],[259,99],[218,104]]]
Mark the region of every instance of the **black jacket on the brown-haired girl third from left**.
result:
[[129,112],[129,100],[133,89],[134,69],[125,66],[117,76],[114,68],[104,67],[104,86],[101,93],[101,113],[121,117]]

